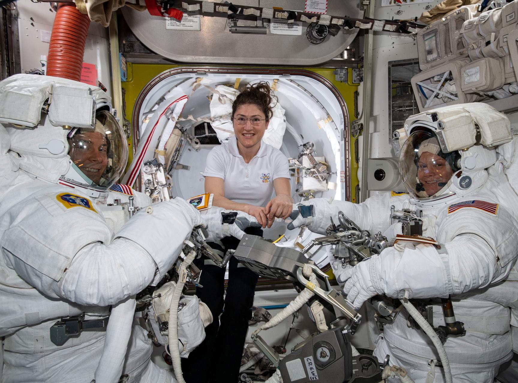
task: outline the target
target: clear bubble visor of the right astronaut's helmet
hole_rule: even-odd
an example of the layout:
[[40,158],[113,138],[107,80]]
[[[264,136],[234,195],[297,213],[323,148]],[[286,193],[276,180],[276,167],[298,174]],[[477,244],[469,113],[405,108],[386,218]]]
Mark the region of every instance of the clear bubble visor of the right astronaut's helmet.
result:
[[413,131],[401,148],[399,173],[407,191],[422,200],[448,192],[458,170],[458,152],[443,153],[428,129]]

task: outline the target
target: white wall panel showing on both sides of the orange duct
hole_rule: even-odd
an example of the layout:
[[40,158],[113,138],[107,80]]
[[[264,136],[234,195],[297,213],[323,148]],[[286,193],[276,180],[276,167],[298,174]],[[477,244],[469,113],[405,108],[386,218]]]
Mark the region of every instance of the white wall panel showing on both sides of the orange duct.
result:
[[[20,34],[20,59],[22,73],[41,70],[45,73],[46,56],[56,12],[51,3],[33,3],[18,0],[18,29]],[[108,28],[90,23],[83,62],[95,64],[97,80],[111,95],[110,51]],[[42,57],[43,56],[43,57]]]

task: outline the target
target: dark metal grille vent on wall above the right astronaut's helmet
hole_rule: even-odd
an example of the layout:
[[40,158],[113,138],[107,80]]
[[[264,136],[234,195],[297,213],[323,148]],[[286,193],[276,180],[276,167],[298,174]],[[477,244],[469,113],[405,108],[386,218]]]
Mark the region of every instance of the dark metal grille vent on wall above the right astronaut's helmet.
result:
[[403,127],[405,120],[419,113],[410,80],[420,72],[419,60],[397,60],[389,63],[389,122],[392,133]]

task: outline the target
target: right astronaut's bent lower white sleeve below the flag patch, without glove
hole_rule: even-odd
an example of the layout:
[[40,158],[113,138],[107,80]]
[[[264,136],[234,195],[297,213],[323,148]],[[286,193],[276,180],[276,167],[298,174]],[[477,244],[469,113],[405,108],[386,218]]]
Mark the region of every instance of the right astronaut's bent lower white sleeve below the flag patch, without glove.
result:
[[475,234],[458,235],[444,246],[441,253],[429,244],[385,249],[369,260],[372,285],[393,298],[406,290],[409,298],[446,298],[501,281],[512,267],[500,267],[491,246]]

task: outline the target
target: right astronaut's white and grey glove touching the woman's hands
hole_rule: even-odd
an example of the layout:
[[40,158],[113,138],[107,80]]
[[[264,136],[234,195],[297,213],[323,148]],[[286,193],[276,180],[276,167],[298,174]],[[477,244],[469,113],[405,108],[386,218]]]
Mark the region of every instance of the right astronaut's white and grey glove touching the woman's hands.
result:
[[[313,205],[314,217],[304,218],[299,210],[299,205]],[[330,216],[336,216],[338,211],[333,211],[331,204],[327,198],[312,198],[308,201],[300,202],[296,205],[293,205],[293,211],[290,215],[290,218],[293,222],[290,222],[287,226],[289,230],[294,229],[295,227],[306,226],[313,233],[318,234],[326,234],[326,228],[331,224],[329,219]]]

